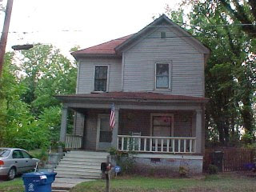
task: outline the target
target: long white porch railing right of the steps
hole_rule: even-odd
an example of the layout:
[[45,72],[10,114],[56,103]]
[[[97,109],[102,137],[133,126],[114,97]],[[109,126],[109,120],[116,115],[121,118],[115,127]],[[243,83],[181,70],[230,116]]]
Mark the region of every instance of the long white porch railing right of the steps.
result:
[[118,135],[118,150],[193,154],[196,151],[196,138]]

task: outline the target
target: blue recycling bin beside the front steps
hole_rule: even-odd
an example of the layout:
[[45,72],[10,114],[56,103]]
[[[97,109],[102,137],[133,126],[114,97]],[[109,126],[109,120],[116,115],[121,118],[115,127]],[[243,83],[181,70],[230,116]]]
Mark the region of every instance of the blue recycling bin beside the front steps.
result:
[[26,192],[51,192],[51,184],[57,173],[35,172],[22,174]]

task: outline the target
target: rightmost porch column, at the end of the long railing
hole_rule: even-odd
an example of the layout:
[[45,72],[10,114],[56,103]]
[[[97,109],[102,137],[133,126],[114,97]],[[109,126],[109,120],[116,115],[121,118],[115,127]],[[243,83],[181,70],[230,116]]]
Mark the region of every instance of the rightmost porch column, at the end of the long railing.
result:
[[202,153],[202,110],[196,110],[196,153],[201,154]]

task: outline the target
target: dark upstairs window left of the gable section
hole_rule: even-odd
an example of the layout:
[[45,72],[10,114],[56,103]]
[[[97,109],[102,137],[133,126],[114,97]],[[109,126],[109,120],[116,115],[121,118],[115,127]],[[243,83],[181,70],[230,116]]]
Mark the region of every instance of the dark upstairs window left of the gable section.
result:
[[108,66],[95,66],[94,91],[106,91]]

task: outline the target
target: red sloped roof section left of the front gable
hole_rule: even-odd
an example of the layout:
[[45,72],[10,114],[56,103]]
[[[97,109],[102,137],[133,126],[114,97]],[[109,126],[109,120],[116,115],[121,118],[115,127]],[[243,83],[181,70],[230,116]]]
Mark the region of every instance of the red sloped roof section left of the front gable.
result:
[[128,38],[130,38],[133,34],[127,35],[122,38],[117,38],[111,40],[110,42],[104,42],[97,46],[91,46],[84,50],[74,51],[72,54],[115,54],[114,48],[125,42]]

